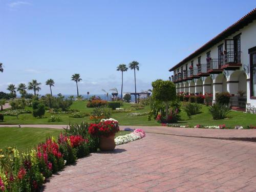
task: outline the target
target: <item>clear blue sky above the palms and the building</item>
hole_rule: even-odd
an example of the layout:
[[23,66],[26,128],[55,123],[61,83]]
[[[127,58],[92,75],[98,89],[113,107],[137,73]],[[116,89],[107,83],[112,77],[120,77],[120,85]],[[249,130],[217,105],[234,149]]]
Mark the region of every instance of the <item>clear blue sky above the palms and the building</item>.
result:
[[[138,61],[137,91],[256,7],[247,1],[0,0],[0,91],[8,84],[54,79],[53,93],[117,88],[116,67]],[[123,91],[134,92],[134,73],[124,72]],[[111,91],[110,91],[111,92]],[[32,92],[31,92],[32,93]]]

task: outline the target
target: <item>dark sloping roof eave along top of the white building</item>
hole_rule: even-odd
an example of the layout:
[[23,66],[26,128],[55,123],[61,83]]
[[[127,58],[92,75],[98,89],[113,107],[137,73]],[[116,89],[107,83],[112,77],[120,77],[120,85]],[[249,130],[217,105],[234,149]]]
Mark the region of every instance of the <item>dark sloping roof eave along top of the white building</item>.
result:
[[218,42],[220,42],[221,40],[223,40],[227,36],[231,35],[232,33],[236,32],[240,29],[242,29],[244,26],[248,25],[249,23],[251,23],[255,19],[256,19],[256,8],[254,8],[252,11],[247,13],[241,19],[239,19],[236,23],[234,23],[233,25],[229,26],[227,29],[222,31],[220,34],[218,34],[217,36],[215,36],[214,38],[212,38],[211,40],[206,42],[206,44],[204,44],[202,47],[197,49],[195,52],[191,53],[189,56],[184,58],[176,66],[170,68],[169,71],[174,71],[176,68],[178,68],[178,67],[182,66],[183,64],[185,64],[186,62],[188,62],[190,59],[193,59],[194,57],[203,53],[204,51],[206,51],[210,47],[214,46],[215,44],[217,44]]

